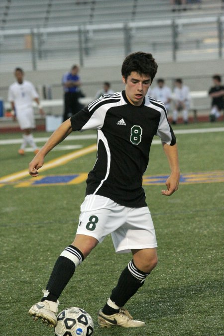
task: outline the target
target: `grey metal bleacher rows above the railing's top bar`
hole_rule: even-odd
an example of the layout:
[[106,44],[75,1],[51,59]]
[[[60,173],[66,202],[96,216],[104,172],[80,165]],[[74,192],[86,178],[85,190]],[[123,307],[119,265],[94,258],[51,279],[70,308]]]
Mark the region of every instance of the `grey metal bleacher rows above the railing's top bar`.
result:
[[214,15],[220,0],[189,3],[187,10],[172,10],[169,0],[1,0],[0,28],[58,27],[172,17]]

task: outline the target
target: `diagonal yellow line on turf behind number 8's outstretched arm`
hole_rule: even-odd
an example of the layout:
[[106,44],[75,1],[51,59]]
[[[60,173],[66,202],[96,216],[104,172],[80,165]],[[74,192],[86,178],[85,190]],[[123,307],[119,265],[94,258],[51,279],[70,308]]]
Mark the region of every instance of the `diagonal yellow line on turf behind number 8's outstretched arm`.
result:
[[[41,172],[44,171],[44,170],[48,170],[48,169],[51,169],[51,168],[55,168],[55,167],[64,165],[71,160],[77,159],[81,156],[92,153],[96,150],[97,150],[97,145],[94,144],[94,145],[87,146],[86,148],[76,150],[72,153],[62,155],[57,159],[53,159],[53,160],[45,163],[43,165],[43,167],[41,167]],[[19,180],[19,179],[21,179],[23,177],[26,177],[26,176],[28,176],[28,169],[24,169],[24,170],[21,170],[20,172],[3,176],[3,177],[0,178],[0,187],[2,187],[7,182],[16,181],[16,180]]]

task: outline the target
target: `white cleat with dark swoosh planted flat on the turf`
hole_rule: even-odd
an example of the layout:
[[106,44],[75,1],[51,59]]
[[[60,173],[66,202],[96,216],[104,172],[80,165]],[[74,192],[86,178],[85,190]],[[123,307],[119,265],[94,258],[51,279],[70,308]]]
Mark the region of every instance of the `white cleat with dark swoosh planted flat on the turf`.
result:
[[[128,316],[130,316],[130,318]],[[119,313],[113,315],[105,315],[102,310],[100,310],[98,313],[98,324],[102,328],[136,328],[145,326],[145,323],[142,321],[132,320],[132,317],[128,311],[123,308],[120,309]]]

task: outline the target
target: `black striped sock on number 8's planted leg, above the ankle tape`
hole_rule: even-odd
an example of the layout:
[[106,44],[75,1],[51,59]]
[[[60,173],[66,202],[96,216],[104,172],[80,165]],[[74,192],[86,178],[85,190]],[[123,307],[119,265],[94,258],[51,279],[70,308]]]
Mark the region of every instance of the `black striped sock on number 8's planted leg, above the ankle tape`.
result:
[[118,283],[112,290],[111,300],[116,306],[123,307],[125,303],[143,286],[144,280],[149,273],[137,269],[131,260],[122,271]]

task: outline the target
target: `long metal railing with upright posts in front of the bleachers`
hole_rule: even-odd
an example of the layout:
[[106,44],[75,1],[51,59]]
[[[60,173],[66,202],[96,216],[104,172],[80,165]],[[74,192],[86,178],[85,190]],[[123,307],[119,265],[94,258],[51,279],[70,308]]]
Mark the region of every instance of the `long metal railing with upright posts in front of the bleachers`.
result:
[[71,57],[81,66],[115,65],[137,50],[160,62],[223,58],[224,16],[1,30],[0,70],[21,61],[37,70],[46,60]]

